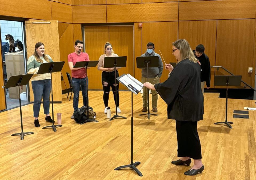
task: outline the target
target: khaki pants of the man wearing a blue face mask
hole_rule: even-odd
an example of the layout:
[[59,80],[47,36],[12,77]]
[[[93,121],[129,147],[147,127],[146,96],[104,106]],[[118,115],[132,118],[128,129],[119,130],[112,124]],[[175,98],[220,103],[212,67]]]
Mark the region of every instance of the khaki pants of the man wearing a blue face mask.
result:
[[[159,76],[155,78],[149,78],[149,81],[147,81],[147,78],[142,77],[141,82],[150,82],[151,84],[158,84],[160,82]],[[143,107],[147,107],[147,93],[148,89],[146,87],[143,87],[143,95],[142,95],[142,101],[143,101]],[[151,90],[152,93],[152,108],[157,107],[157,99],[158,99],[158,94],[156,90]]]

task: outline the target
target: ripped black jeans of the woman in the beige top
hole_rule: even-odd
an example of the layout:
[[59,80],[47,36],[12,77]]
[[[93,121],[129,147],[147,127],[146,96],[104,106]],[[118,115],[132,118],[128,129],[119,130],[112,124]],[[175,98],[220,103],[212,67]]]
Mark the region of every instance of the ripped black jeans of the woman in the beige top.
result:
[[[117,77],[119,77],[118,71],[117,72]],[[109,91],[110,91],[110,86],[112,88],[112,92],[114,95],[114,100],[117,103],[117,107],[119,106],[119,93],[118,93],[118,88],[119,88],[119,81],[117,81],[117,84],[115,84],[115,71],[112,72],[106,72],[102,71],[101,74],[101,81],[102,81],[102,86],[103,86],[103,101],[105,104],[105,107],[108,106],[109,102]],[[117,91],[115,90],[115,87],[117,87]],[[117,94],[117,99],[115,99],[115,94]]]

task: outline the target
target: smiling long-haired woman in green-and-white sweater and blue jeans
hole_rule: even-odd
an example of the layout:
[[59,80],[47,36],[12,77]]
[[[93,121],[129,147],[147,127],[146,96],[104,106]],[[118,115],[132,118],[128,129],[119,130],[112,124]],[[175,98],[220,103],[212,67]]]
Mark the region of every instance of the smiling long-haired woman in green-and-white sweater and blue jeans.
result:
[[34,124],[35,127],[40,127],[38,116],[41,106],[41,99],[43,97],[43,110],[45,114],[45,121],[53,122],[50,116],[49,108],[50,108],[50,93],[51,93],[51,74],[38,74],[39,66],[42,63],[53,62],[51,57],[45,54],[45,46],[43,43],[38,42],[35,44],[35,52],[32,56],[27,60],[27,73],[34,74],[31,78],[32,89],[34,93]]

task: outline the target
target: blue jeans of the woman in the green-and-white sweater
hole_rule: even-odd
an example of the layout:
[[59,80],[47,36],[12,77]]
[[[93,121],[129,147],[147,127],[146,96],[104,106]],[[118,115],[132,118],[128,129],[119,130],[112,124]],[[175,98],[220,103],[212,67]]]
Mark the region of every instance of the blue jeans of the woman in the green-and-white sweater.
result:
[[43,111],[44,114],[49,114],[50,108],[50,93],[51,93],[51,79],[44,79],[39,81],[32,81],[32,89],[34,93],[34,117],[38,118],[43,97]]

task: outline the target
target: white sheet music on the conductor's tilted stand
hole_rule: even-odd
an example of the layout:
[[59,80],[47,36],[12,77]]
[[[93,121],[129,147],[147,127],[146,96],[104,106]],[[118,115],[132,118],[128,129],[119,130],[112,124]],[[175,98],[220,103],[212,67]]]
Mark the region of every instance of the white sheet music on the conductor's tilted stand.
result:
[[143,88],[143,84],[130,74],[123,74],[119,76],[117,80],[130,89],[134,94],[138,94]]

